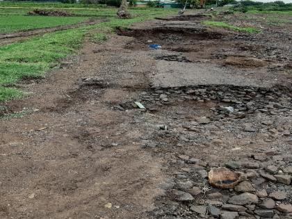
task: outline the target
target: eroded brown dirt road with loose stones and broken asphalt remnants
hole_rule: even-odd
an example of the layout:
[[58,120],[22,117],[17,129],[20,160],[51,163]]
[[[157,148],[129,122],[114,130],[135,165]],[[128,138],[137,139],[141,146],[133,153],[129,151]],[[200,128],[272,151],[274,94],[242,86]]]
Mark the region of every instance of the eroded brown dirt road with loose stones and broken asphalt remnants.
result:
[[[119,29],[19,83],[29,97],[2,113],[23,115],[0,121],[0,218],[291,218],[292,26],[202,19]],[[234,188],[209,184],[218,167]]]

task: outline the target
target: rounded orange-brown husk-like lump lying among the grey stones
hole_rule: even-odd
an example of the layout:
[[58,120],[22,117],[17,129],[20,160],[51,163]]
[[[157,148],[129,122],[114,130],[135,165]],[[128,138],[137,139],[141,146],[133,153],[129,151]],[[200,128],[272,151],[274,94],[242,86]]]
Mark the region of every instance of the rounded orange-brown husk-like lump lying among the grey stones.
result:
[[238,172],[227,168],[213,168],[209,171],[209,183],[218,188],[234,188],[240,179]]

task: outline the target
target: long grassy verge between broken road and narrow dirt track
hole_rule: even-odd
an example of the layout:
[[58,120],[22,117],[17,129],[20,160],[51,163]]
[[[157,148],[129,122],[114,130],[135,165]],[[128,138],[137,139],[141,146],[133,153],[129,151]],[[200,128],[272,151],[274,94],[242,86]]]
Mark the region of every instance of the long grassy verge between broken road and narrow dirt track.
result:
[[117,26],[127,27],[135,22],[142,22],[159,15],[177,13],[177,10],[164,9],[132,10],[135,11],[136,15],[133,19],[117,19],[115,18],[116,9],[110,8],[101,11],[111,14],[111,17],[108,17],[108,22],[47,33],[24,42],[1,46],[0,102],[21,97],[22,92],[13,88],[19,80],[25,77],[43,76],[52,66],[58,65],[62,58],[74,53],[81,46],[84,37],[88,35],[90,30],[96,29],[98,32],[93,35],[93,40],[103,42]]

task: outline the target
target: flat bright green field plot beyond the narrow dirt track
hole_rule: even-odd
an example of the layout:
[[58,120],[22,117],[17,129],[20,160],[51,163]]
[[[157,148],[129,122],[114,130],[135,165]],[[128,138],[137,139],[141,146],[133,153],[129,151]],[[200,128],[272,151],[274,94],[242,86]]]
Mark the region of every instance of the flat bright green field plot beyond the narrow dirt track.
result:
[[76,24],[85,19],[86,17],[0,16],[0,33]]

